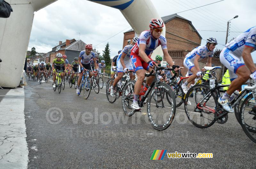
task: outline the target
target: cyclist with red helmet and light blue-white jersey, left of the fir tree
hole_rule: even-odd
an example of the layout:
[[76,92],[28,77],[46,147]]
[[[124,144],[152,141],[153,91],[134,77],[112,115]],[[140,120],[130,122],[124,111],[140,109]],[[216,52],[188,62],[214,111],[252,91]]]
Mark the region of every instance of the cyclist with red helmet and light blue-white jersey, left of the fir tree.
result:
[[[77,81],[77,89],[76,89],[77,95],[80,95],[80,83],[83,78],[83,70],[84,69],[92,70],[91,63],[90,63],[91,58],[93,59],[94,63],[96,63],[95,54],[94,52],[92,52],[92,44],[87,44],[85,45],[85,50],[80,52],[79,58],[78,58],[78,63],[80,65],[80,68],[79,68],[80,75]],[[94,65],[94,66],[95,66],[95,70],[98,70],[98,66],[97,65]],[[92,75],[93,73],[89,72],[89,76],[92,77]]]

